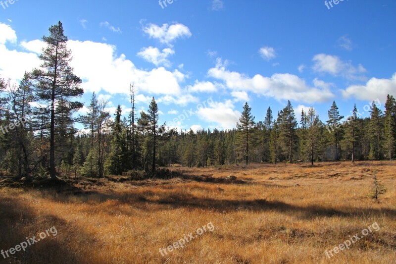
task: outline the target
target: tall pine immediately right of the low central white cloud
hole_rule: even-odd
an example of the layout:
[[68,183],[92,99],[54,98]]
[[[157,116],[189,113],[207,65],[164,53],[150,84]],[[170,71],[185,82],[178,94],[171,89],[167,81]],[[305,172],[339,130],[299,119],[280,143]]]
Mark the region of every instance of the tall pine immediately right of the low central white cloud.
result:
[[249,163],[249,143],[252,141],[252,129],[254,128],[254,116],[251,115],[251,108],[245,103],[244,111],[239,118],[237,128],[240,133],[239,143],[245,147],[244,156],[246,165]]

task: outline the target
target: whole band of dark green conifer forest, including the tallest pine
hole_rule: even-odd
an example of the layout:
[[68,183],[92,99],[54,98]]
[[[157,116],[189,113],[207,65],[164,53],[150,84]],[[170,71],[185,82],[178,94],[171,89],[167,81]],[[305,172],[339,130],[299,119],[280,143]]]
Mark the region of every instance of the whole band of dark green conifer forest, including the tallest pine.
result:
[[[132,111],[106,111],[107,102],[93,93],[87,112],[74,101],[84,94],[81,79],[69,66],[61,22],[44,36],[41,67],[25,73],[19,85],[0,78],[0,166],[3,171],[32,178],[56,175],[103,177],[127,174],[151,177],[159,166],[211,166],[249,162],[311,162],[393,159],[396,156],[396,101],[388,95],[385,112],[376,102],[370,117],[356,106],[340,115],[336,102],[325,122],[315,109],[296,114],[290,101],[277,113],[263,109],[256,120],[246,103],[235,129],[176,131],[159,123],[152,98],[147,111],[136,112],[135,87],[130,86]],[[266,111],[265,111],[266,110]],[[125,115],[124,115],[125,116]],[[80,123],[88,133],[76,129]],[[157,175],[158,176],[158,175]]]

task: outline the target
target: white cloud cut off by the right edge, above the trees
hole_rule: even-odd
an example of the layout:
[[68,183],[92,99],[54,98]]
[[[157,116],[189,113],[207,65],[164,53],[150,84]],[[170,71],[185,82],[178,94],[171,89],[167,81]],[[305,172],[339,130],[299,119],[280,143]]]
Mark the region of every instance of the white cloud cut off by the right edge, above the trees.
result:
[[372,102],[377,98],[380,102],[385,102],[387,95],[395,95],[396,92],[396,73],[391,79],[371,78],[366,85],[352,85],[342,90],[344,98],[351,96],[359,100]]

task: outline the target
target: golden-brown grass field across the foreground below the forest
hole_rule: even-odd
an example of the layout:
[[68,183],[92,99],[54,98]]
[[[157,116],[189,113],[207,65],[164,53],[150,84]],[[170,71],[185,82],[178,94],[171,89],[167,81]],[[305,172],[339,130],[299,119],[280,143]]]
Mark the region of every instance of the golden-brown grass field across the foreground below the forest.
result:
[[[379,202],[366,196],[373,169],[388,188]],[[0,188],[0,250],[57,230],[0,263],[396,263],[395,161],[171,170],[187,176]],[[160,254],[209,222],[213,231]],[[374,222],[378,232],[326,257]]]

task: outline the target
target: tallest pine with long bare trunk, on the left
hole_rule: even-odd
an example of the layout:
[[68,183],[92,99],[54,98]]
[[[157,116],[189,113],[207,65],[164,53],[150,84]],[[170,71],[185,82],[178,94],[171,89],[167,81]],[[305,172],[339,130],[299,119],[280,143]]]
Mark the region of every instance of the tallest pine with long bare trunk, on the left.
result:
[[83,95],[83,89],[79,88],[81,79],[73,73],[69,66],[72,59],[71,51],[67,50],[67,37],[64,35],[62,23],[49,28],[49,36],[43,37],[47,45],[39,56],[43,61],[41,68],[32,72],[33,80],[37,88],[37,96],[40,100],[49,102],[50,109],[50,149],[49,149],[49,174],[51,178],[56,177],[55,170],[55,101],[63,100],[70,111],[82,107],[79,102],[68,101],[70,98]]

